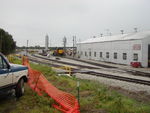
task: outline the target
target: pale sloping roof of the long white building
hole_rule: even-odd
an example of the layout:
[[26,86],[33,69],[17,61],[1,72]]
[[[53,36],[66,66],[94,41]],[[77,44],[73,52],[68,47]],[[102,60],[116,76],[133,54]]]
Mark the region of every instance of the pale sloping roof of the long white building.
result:
[[118,34],[118,35],[104,36],[104,37],[98,37],[98,38],[90,38],[80,43],[84,44],[84,43],[96,43],[96,42],[107,42],[107,41],[138,40],[138,39],[143,39],[143,38],[150,38],[150,31],[135,32],[135,33],[128,33],[128,34]]

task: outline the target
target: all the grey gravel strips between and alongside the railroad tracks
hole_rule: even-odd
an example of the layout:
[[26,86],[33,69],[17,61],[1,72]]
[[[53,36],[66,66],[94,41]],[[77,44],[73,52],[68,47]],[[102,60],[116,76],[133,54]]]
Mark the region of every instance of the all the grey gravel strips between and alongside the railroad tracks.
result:
[[[63,60],[71,62],[71,63],[75,63],[75,64],[79,63],[79,62],[76,62],[76,61],[72,62],[73,60],[69,60],[69,59],[68,60],[61,59],[61,61],[63,61]],[[57,64],[56,62],[53,62],[53,63]],[[60,63],[58,63],[58,64],[60,64]],[[80,64],[85,65],[86,63],[80,63]],[[102,64],[107,64],[107,63],[102,63]],[[109,64],[109,65],[114,66],[114,64]],[[87,66],[87,64],[86,64],[86,66]],[[89,64],[88,66],[91,66],[91,65]],[[146,69],[145,68],[138,68],[138,69],[135,68],[134,69],[130,66],[124,66],[124,65],[115,65],[115,66],[119,67],[119,68],[122,68],[122,69],[131,69],[131,70],[138,70],[138,71],[143,71],[143,72],[150,72],[149,68],[146,68]],[[96,66],[93,66],[93,67],[96,67]],[[89,71],[90,69],[83,69],[83,70]],[[106,74],[112,74],[112,75],[117,75],[117,76],[125,76],[125,77],[130,77],[130,78],[142,79],[142,80],[149,80],[150,81],[150,78],[148,78],[148,77],[134,76],[132,74],[127,73],[124,70],[119,70],[119,69],[115,69],[115,68],[112,68],[112,69],[111,68],[109,68],[109,69],[101,68],[101,69],[98,69],[98,70],[95,69],[95,70],[92,70],[92,71],[100,72],[100,73],[106,73]],[[104,77],[96,77],[96,76],[87,75],[87,74],[76,73],[75,75],[76,75],[77,78],[98,81],[100,83],[106,84],[107,86],[117,88],[117,90],[121,89],[121,90],[124,90],[125,92],[134,92],[133,95],[140,95],[140,96],[143,96],[143,97],[148,97],[149,98],[148,100],[150,100],[150,86],[125,82],[125,81],[120,81],[120,80],[108,79],[108,78],[104,78]]]

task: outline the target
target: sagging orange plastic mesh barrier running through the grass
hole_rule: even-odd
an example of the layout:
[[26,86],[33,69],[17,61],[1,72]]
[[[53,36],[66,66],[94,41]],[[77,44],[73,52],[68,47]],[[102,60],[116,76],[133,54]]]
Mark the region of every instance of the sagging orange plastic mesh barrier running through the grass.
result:
[[23,57],[23,65],[29,68],[28,85],[38,95],[42,95],[43,93],[48,94],[57,103],[53,107],[64,113],[80,113],[78,101],[73,95],[57,89],[49,83],[41,72],[33,70],[29,65],[27,57]]

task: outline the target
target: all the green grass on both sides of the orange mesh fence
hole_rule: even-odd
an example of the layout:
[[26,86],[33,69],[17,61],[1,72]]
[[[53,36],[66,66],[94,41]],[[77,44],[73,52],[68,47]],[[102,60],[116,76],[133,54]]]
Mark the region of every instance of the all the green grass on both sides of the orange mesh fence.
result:
[[[21,63],[17,59],[14,61]],[[79,81],[81,113],[99,113],[100,111],[102,113],[150,113],[150,102],[143,104],[117,91],[109,90],[95,81],[56,76],[56,73],[48,66],[31,63],[31,67],[41,71],[54,86],[74,96],[77,96],[76,82]],[[13,102],[12,99],[7,99],[0,103],[0,113],[8,109],[6,106],[11,105],[11,101]],[[52,107],[53,103],[51,98],[38,96],[27,86],[25,95],[13,103],[11,112],[6,113],[57,113],[58,111]]]

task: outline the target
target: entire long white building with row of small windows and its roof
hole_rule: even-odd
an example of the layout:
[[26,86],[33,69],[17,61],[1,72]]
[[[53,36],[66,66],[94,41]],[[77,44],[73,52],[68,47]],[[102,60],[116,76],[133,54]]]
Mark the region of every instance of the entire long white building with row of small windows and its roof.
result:
[[77,43],[77,55],[127,65],[141,62],[143,67],[150,67],[150,31],[91,38]]

